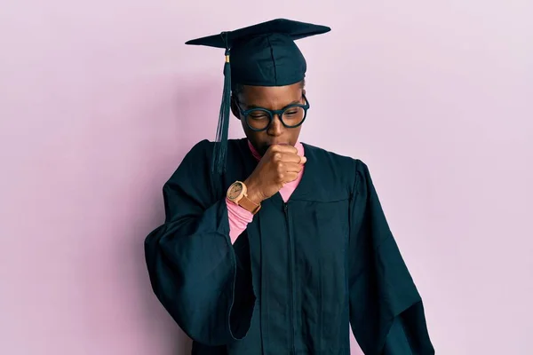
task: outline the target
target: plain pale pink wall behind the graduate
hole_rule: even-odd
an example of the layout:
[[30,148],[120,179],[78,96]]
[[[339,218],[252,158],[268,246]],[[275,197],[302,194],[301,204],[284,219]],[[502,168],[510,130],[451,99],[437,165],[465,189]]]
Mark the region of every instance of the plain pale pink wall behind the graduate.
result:
[[437,353],[533,353],[532,16],[529,0],[3,4],[0,353],[187,354],[143,256],[164,181],[216,130],[223,53],[183,43],[276,17],[333,28],[299,42],[302,140],[370,165]]

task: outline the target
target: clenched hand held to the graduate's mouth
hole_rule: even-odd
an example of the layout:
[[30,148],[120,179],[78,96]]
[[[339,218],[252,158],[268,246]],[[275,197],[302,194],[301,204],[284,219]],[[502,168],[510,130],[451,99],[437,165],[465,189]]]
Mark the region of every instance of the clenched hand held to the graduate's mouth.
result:
[[283,185],[298,178],[306,161],[294,146],[269,146],[256,169],[244,181],[248,198],[260,203],[272,197]]

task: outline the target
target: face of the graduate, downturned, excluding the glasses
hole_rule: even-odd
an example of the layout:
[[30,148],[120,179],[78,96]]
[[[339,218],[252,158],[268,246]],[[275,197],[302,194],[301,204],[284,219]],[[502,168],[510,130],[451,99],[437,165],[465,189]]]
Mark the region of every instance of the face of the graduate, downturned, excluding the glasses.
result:
[[[238,96],[238,101],[243,110],[252,107],[263,107],[270,110],[281,110],[291,104],[304,104],[303,94],[306,91],[300,83],[287,86],[245,86],[243,92]],[[296,128],[286,128],[283,126],[277,114],[267,130],[251,130],[246,124],[246,120],[232,100],[232,112],[243,124],[243,130],[251,144],[258,150],[259,154],[265,154],[269,146],[274,144],[287,144],[294,146],[298,142],[298,137],[302,126]],[[284,117],[284,115],[283,115]]]

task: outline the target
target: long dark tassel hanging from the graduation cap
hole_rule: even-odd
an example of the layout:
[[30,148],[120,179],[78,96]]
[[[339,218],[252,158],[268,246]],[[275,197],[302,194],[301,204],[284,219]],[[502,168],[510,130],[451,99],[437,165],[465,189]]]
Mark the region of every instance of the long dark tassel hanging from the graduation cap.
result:
[[222,91],[222,103],[219,112],[219,127],[215,139],[215,149],[212,172],[222,175],[226,172],[227,160],[227,130],[229,126],[229,113],[231,108],[231,67],[229,64],[229,49],[226,49],[226,63],[224,64],[224,90]]

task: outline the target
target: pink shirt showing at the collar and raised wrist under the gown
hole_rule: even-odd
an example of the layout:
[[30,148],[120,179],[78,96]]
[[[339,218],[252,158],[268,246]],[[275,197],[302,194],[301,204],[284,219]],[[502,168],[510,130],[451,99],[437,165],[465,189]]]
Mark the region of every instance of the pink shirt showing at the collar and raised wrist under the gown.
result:
[[[253,156],[258,161],[260,161],[261,155],[251,145],[250,141],[248,141],[248,146],[250,147],[251,154],[253,154]],[[295,147],[298,149],[298,155],[304,156],[304,146],[300,142],[298,142]],[[282,187],[282,189],[280,190],[280,194],[282,195],[283,201],[289,201],[290,195],[294,192],[294,190],[296,190],[296,187],[302,179],[303,173],[304,169],[299,172],[298,178],[296,180]],[[233,244],[235,243],[239,235],[243,233],[248,224],[251,223],[251,221],[253,220],[253,215],[251,214],[251,212],[247,211],[246,209],[243,209],[241,206],[235,205],[235,203],[229,201],[227,198],[226,204],[227,217],[229,219],[229,238],[231,239],[231,242]]]

